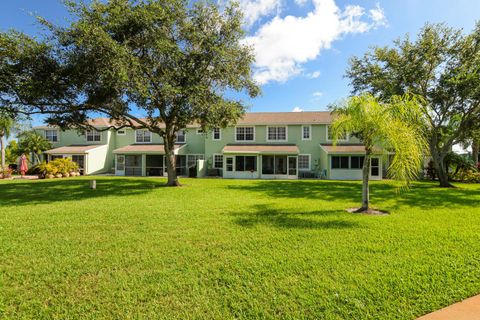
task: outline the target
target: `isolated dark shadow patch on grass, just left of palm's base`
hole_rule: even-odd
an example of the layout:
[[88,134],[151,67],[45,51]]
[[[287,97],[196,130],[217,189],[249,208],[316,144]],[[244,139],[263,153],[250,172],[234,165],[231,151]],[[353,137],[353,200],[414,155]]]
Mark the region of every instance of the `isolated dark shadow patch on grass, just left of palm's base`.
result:
[[266,225],[286,229],[345,229],[359,227],[358,222],[342,219],[342,211],[298,212],[255,205],[249,212],[233,213],[234,222],[242,227]]

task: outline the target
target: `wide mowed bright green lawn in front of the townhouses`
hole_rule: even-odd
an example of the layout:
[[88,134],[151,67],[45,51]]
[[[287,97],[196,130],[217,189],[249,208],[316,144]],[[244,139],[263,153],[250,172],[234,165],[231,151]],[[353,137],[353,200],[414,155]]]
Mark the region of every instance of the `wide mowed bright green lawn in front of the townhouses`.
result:
[[0,182],[0,317],[414,319],[480,293],[480,185]]

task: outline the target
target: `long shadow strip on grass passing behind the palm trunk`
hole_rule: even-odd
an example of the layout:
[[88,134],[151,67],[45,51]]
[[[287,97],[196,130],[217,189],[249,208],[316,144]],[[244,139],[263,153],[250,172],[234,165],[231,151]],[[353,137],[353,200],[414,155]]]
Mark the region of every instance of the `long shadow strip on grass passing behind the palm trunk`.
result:
[[[361,203],[362,185],[360,181],[333,180],[259,180],[245,185],[231,185],[230,189],[263,193],[274,198],[319,199],[324,201],[345,201]],[[390,182],[374,181],[370,185],[370,200],[381,204],[395,200],[394,206],[384,209],[395,209],[398,206],[410,206],[422,209],[438,207],[479,207],[480,189],[439,188],[435,183],[416,182],[409,190],[399,191]],[[383,207],[382,207],[383,208]]]

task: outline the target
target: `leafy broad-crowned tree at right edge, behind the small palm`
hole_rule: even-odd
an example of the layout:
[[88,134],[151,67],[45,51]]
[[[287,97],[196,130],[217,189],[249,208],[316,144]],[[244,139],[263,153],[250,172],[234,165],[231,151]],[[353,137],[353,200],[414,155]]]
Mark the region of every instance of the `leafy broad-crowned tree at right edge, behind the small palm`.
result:
[[371,92],[384,100],[405,93],[423,98],[440,185],[451,186],[445,156],[480,121],[480,24],[467,35],[427,24],[416,40],[406,36],[352,58],[347,77],[354,93]]

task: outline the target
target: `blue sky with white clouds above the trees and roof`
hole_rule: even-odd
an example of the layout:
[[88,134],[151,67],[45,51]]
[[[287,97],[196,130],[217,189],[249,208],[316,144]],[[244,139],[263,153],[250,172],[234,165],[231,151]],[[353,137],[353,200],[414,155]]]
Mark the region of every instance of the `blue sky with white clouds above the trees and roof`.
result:
[[[225,1],[225,0],[223,0]],[[415,36],[426,22],[470,32],[478,0],[241,0],[247,43],[255,46],[255,75],[263,94],[250,111],[324,110],[349,94],[348,59],[371,45]],[[33,14],[59,24],[68,19],[58,0],[0,2],[0,29],[38,35]],[[36,121],[35,121],[36,122]]]

